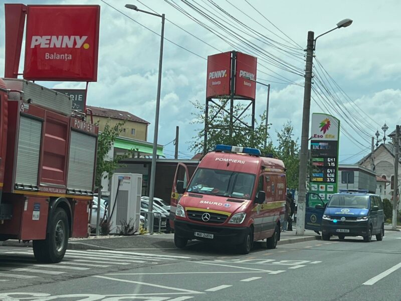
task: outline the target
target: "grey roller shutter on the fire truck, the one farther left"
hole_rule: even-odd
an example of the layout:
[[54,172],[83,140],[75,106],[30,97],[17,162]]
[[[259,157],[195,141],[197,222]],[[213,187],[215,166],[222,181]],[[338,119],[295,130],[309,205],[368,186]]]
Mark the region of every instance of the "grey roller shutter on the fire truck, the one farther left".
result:
[[38,185],[42,122],[26,116],[20,117],[17,150],[17,184]]

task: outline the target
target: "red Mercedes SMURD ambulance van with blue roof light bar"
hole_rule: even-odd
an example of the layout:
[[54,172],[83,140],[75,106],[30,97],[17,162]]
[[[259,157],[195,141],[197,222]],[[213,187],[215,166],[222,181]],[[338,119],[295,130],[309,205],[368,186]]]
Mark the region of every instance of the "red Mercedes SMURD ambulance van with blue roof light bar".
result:
[[179,164],[170,204],[176,247],[192,239],[235,245],[244,254],[257,240],[276,247],[286,200],[281,160],[256,148],[217,145],[187,179]]

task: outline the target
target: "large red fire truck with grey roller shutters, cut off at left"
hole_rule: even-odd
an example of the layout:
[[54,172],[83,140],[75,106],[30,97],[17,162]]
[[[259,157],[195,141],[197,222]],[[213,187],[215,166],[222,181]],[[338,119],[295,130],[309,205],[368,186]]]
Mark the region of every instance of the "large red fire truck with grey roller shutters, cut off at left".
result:
[[0,241],[32,240],[41,262],[88,236],[98,127],[71,108],[63,93],[0,79]]

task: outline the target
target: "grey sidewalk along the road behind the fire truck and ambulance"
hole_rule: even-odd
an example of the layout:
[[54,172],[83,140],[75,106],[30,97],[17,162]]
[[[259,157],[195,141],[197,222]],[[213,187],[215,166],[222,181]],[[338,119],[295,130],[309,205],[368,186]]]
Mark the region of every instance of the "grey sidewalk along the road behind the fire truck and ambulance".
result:
[[[320,236],[311,230],[305,230],[305,235],[295,235],[294,231],[281,233],[278,245],[320,239]],[[32,247],[32,242],[20,243],[18,240],[7,240],[4,246]],[[68,249],[73,250],[116,250],[116,249],[159,249],[175,248],[174,234],[146,234],[133,236],[91,236],[88,238],[70,239]]]

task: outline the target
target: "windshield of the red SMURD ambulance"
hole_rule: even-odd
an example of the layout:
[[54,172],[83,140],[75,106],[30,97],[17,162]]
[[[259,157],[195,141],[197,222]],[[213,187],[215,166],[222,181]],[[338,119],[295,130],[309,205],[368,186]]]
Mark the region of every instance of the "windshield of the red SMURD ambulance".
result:
[[250,199],[255,175],[199,168],[188,185],[188,192]]

